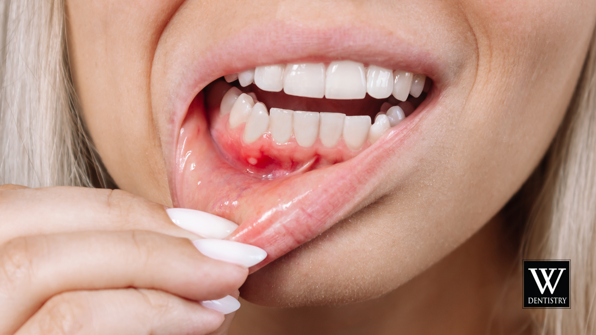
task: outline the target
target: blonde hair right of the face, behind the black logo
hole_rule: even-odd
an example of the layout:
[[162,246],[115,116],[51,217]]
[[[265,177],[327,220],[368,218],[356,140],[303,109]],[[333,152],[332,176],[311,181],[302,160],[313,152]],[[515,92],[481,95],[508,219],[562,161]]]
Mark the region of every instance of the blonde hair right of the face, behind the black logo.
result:
[[566,117],[535,172],[543,182],[530,213],[523,258],[571,260],[571,309],[538,311],[541,334],[596,331],[595,39],[596,32]]

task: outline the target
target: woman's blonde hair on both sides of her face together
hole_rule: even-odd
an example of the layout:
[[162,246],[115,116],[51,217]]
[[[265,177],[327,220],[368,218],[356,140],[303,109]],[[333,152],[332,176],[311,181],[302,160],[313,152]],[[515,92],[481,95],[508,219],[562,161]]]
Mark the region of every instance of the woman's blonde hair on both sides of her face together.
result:
[[[76,114],[61,0],[0,0],[0,184],[91,186],[94,159]],[[89,163],[91,169],[89,169]],[[596,44],[531,197],[524,257],[571,259],[571,309],[536,315],[542,334],[594,333]],[[520,303],[521,304],[521,303]]]

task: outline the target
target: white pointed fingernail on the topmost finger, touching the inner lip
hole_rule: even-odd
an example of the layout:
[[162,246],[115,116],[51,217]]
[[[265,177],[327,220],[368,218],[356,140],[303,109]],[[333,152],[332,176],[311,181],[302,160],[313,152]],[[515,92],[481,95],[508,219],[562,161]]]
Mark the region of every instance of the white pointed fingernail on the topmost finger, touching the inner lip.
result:
[[200,210],[169,208],[166,213],[178,227],[204,238],[225,238],[238,228],[232,221]]

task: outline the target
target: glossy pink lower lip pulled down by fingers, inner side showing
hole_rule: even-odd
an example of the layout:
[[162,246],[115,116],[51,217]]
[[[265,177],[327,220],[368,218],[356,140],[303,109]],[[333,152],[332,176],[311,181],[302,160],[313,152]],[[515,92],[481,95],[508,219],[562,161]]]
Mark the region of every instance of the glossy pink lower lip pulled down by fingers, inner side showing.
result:
[[273,180],[255,178],[222,157],[209,131],[201,92],[178,138],[173,203],[239,223],[228,239],[268,253],[250,269],[254,272],[390,191],[383,182],[390,160],[399,156],[400,148],[415,143],[415,125],[436,104],[435,92],[432,89],[414,113],[358,156]]

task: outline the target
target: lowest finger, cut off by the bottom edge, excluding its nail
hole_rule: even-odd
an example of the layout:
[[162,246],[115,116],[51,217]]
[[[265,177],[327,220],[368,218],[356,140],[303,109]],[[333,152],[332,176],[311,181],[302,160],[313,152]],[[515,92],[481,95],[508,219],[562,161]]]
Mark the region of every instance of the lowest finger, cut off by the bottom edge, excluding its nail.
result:
[[48,300],[15,335],[201,335],[222,321],[221,313],[163,291],[72,291]]

